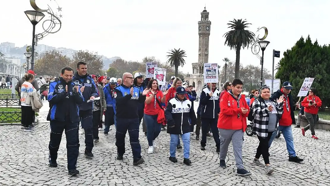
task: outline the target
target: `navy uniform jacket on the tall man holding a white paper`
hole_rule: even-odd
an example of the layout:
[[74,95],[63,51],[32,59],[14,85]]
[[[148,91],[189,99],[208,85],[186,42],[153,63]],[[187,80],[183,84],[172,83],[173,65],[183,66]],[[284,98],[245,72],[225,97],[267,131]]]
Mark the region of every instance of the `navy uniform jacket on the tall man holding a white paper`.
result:
[[87,100],[89,100],[90,96],[99,96],[92,77],[90,77],[88,74],[82,77],[78,74],[78,72],[76,72],[73,76],[72,82],[79,84],[80,87],[85,86],[85,89],[82,93],[84,102],[79,105],[79,110],[91,110],[93,108],[93,101],[87,103]]

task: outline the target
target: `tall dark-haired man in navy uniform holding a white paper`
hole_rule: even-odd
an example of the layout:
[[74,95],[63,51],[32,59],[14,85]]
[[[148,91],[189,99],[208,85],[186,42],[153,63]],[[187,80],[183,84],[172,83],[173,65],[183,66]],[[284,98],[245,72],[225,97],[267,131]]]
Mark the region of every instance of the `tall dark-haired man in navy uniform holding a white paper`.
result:
[[87,65],[85,62],[80,61],[77,63],[77,72],[73,76],[73,80],[76,85],[82,87],[84,102],[79,105],[79,116],[82,128],[85,131],[85,153],[86,157],[93,157],[92,149],[93,144],[93,102],[87,102],[89,99],[98,97],[96,85],[94,80],[89,74],[87,74]]

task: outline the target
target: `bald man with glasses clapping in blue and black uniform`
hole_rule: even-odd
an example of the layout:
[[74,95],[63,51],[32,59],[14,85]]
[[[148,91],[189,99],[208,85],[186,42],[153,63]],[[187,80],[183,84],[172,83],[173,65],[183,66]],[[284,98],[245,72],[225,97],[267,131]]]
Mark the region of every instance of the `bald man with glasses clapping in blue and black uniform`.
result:
[[141,145],[139,141],[139,104],[146,99],[149,90],[142,93],[138,87],[133,86],[134,77],[131,73],[125,72],[122,84],[115,88],[114,98],[116,99],[116,146],[117,160],[123,160],[125,153],[125,136],[128,130],[129,141],[133,154],[133,165],[144,163],[141,156]]

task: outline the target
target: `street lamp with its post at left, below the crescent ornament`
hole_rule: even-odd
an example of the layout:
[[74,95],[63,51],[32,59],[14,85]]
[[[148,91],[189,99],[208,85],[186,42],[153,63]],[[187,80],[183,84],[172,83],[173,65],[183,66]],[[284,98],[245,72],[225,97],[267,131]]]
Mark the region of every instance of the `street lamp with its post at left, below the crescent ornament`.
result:
[[34,69],[34,45],[35,45],[35,31],[36,31],[36,25],[38,22],[45,17],[45,14],[34,11],[34,10],[28,10],[24,12],[27,18],[31,21],[33,25],[33,31],[32,31],[32,56],[31,56],[31,70]]

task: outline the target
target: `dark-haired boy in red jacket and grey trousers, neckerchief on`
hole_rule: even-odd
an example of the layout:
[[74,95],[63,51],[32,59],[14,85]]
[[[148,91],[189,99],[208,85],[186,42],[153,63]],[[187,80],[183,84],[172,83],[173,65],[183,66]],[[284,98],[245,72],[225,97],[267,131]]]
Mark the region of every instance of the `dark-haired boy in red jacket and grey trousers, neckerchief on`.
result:
[[247,127],[249,105],[245,95],[241,94],[243,82],[234,79],[232,89],[223,94],[220,99],[221,112],[218,119],[220,134],[220,167],[226,168],[225,159],[230,142],[233,143],[237,175],[249,176],[252,173],[243,166],[242,146],[244,131]]

